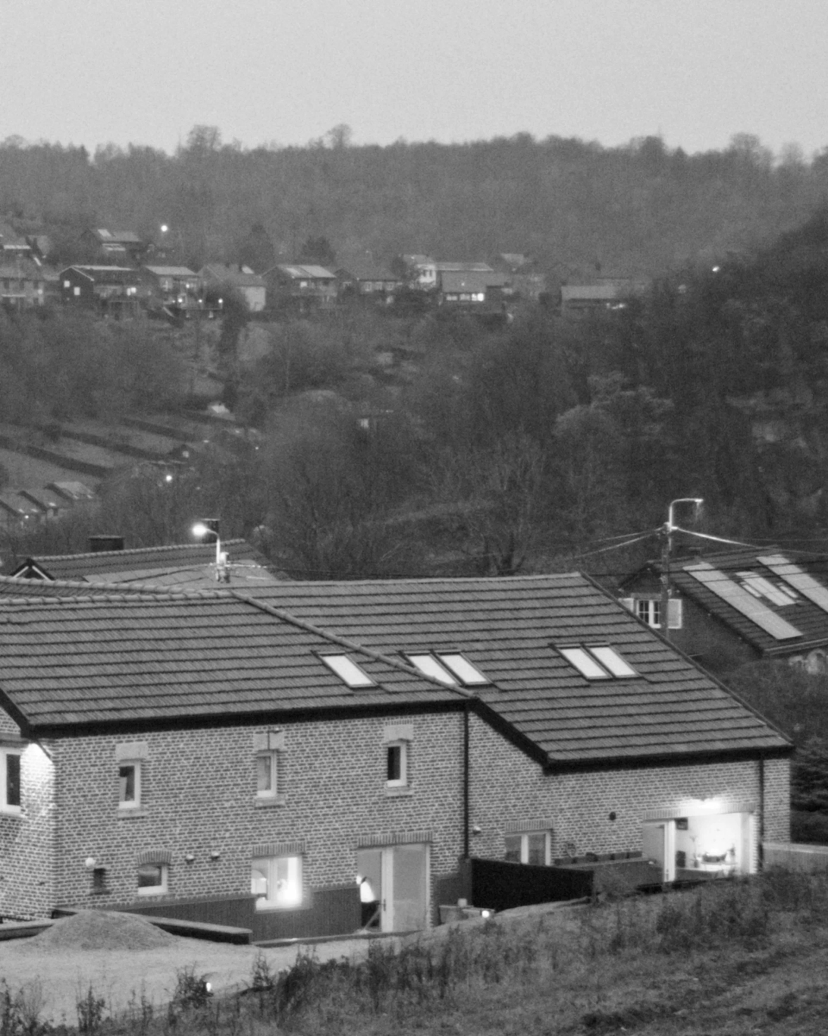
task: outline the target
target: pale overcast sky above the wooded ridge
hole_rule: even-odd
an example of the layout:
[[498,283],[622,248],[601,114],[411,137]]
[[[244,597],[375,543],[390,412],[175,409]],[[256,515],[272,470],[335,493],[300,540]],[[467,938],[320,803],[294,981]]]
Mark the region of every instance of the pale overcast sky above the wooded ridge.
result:
[[828,0],[0,0],[0,140],[828,146]]

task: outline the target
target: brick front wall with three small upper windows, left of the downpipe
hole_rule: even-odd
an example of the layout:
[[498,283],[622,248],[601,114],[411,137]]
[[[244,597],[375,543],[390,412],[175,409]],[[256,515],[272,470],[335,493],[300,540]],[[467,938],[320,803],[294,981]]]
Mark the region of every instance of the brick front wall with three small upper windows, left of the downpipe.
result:
[[[391,843],[405,832],[432,834],[432,888],[457,869],[462,852],[462,717],[404,717],[413,727],[411,795],[386,793],[384,727],[393,718],[219,727],[129,737],[85,737],[56,745],[61,903],[134,901],[140,854],[171,854],[170,894],[250,892],[253,846],[304,843],[310,888],[354,882],[361,839]],[[284,730],[284,805],[256,803],[254,741]],[[119,816],[115,747],[146,742],[138,815]],[[218,860],[210,852],[218,851]],[[192,853],[195,861],[184,862]],[[87,857],[106,866],[106,895],[90,895]],[[148,899],[149,897],[141,897]],[[158,897],[151,897],[156,901]]]

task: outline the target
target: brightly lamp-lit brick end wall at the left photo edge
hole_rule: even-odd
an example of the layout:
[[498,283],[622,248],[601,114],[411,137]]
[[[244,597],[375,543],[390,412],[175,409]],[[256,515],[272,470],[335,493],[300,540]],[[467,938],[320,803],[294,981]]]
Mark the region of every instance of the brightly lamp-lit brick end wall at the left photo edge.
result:
[[[0,710],[3,736],[20,728]],[[54,768],[36,745],[21,760],[21,813],[0,812],[0,917],[28,920],[48,915],[54,902]]]

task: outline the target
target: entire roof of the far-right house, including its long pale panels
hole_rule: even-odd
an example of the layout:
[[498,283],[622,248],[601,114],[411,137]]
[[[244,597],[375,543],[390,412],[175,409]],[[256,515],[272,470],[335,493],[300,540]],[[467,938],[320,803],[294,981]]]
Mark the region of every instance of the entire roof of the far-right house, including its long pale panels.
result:
[[[660,575],[658,562],[647,569]],[[828,643],[828,558],[802,559],[797,551],[777,547],[750,548],[674,558],[669,575],[676,589],[762,655],[790,655]],[[634,579],[624,585],[633,586]]]

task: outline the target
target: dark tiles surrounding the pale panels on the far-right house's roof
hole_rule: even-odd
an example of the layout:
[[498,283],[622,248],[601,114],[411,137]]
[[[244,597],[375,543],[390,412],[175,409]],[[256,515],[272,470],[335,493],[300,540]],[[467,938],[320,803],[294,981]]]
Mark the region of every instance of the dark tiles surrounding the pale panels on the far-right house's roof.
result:
[[[738,572],[752,572],[774,586],[784,585],[784,581],[760,560],[761,557],[774,555],[782,555],[810,573],[823,586],[828,587],[828,559],[815,558],[813,555],[805,555],[803,559],[797,551],[780,550],[777,547],[751,548],[722,554],[706,554],[704,560],[712,566],[715,572],[721,573],[722,579],[729,581],[734,581]],[[799,595],[795,603],[783,606],[765,597],[759,599],[765,608],[792,624],[802,634],[801,637],[779,640],[686,571],[697,563],[698,558],[681,560],[674,558],[670,566],[673,585],[710,614],[715,615],[763,655],[790,655],[801,652],[806,646],[828,643],[828,612],[803,595]],[[660,571],[656,563],[652,564],[652,568],[655,572]]]

